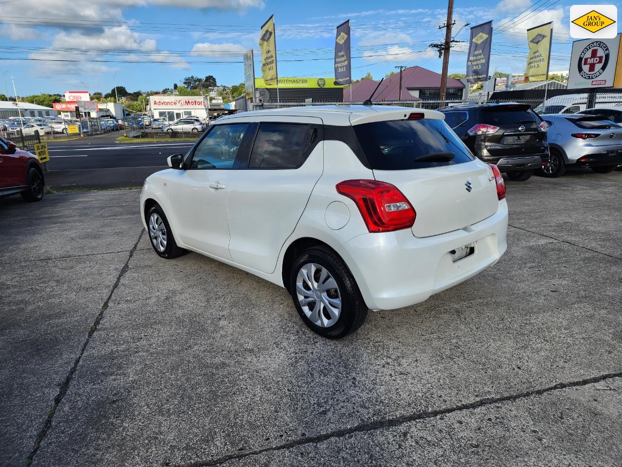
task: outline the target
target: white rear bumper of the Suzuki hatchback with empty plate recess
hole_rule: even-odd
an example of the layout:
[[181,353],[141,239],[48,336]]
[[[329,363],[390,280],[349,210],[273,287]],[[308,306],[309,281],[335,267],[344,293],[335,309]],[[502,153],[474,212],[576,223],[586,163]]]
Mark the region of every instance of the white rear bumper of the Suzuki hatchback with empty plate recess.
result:
[[[508,204],[477,224],[447,234],[418,238],[410,229],[362,234],[339,252],[371,309],[420,303],[491,267],[506,251]],[[452,262],[450,252],[473,243],[475,252]]]

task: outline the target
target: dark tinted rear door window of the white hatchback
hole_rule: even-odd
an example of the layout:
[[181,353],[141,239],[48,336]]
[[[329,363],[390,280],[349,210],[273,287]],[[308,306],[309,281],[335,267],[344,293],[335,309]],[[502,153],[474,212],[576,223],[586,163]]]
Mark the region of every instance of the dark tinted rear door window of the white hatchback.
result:
[[261,123],[249,169],[296,169],[305,161],[305,139],[309,126],[296,123]]

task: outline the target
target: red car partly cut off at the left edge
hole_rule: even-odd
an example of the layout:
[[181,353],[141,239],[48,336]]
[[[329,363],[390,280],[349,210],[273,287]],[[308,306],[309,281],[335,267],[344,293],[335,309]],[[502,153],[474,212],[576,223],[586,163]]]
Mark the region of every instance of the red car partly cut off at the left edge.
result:
[[37,156],[0,136],[0,197],[20,193],[27,201],[40,201],[44,186]]

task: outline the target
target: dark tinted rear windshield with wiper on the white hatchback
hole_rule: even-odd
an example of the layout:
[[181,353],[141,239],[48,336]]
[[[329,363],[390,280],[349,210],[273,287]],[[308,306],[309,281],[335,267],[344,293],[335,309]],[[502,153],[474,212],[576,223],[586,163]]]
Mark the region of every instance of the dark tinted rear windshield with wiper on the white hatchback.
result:
[[[376,170],[424,169],[474,159],[443,120],[376,121],[355,125],[354,130],[371,168]],[[424,157],[429,160],[417,161]]]

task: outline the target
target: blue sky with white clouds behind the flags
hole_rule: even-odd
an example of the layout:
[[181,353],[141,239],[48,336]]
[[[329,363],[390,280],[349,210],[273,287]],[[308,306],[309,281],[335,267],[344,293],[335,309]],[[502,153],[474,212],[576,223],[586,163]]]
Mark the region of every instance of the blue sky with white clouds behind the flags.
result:
[[[554,21],[550,69],[567,70],[571,5],[455,0],[454,32],[492,19],[498,33],[491,71],[518,73],[527,54],[525,30]],[[335,27],[346,19],[352,55],[360,57],[352,60],[353,78],[366,72],[380,78],[396,65],[440,71],[441,60],[428,46],[443,39],[438,26],[446,7],[445,0],[0,0],[0,73],[11,95],[11,75],[19,95],[105,93],[114,83],[129,91],[161,90],[188,75],[214,75],[219,84],[233,85],[243,81],[241,55],[251,47],[259,52],[259,27],[272,13],[281,77],[332,76]],[[463,27],[457,39],[468,34]],[[465,51],[466,42],[452,49],[450,72],[465,72]]]

